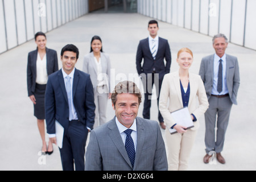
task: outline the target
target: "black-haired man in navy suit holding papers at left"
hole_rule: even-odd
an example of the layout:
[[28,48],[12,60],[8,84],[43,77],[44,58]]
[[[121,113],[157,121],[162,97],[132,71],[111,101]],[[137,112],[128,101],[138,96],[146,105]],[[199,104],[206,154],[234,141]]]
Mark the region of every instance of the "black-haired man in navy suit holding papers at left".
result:
[[47,133],[56,142],[55,122],[64,127],[60,148],[64,171],[84,170],[85,144],[94,125],[94,95],[90,76],[75,68],[79,49],[68,44],[61,50],[63,67],[48,78],[46,88]]

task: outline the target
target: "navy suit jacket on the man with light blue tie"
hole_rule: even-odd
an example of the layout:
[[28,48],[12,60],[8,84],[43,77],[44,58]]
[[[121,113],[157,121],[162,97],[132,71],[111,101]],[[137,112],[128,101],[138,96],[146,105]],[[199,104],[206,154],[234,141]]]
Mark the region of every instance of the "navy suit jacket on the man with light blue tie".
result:
[[[67,131],[69,124],[68,96],[61,69],[49,76],[45,100],[47,133],[55,134],[55,120]],[[73,103],[79,121],[93,129],[95,104],[92,81],[88,74],[78,69],[75,69],[73,80]]]

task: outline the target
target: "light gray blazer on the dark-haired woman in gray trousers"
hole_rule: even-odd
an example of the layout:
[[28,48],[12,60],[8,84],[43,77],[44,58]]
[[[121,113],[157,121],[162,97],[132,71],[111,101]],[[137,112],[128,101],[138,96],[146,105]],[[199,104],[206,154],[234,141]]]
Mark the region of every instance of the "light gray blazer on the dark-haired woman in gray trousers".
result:
[[[110,93],[110,59],[109,55],[101,52],[101,65],[102,65],[102,73],[106,74],[104,80],[106,80],[106,86],[108,87]],[[92,80],[94,91],[97,89],[97,65],[94,61],[93,52],[84,56],[84,64],[82,66],[82,71],[88,73],[90,75],[90,79]]]

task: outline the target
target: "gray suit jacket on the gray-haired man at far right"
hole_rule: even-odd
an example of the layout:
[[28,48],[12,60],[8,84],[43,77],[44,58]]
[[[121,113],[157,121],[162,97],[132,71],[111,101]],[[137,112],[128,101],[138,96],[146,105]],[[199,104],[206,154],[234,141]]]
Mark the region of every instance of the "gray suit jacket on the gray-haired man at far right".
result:
[[[204,57],[201,61],[199,75],[201,76],[208,100],[213,89],[213,63],[214,55]],[[237,93],[240,86],[240,73],[237,57],[226,55],[226,83],[229,90],[229,97],[233,104],[237,105]]]

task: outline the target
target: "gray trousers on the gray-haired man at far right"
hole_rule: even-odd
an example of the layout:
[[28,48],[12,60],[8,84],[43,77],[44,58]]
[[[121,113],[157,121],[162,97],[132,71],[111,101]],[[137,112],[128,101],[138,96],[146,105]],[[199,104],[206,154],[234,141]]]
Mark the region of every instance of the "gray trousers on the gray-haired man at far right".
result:
[[[210,97],[209,109],[205,112],[205,151],[207,154],[210,151],[220,153],[223,150],[232,105],[229,97]],[[216,126],[217,135],[215,133]]]

